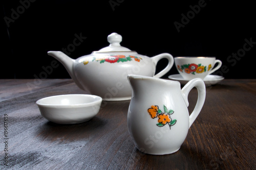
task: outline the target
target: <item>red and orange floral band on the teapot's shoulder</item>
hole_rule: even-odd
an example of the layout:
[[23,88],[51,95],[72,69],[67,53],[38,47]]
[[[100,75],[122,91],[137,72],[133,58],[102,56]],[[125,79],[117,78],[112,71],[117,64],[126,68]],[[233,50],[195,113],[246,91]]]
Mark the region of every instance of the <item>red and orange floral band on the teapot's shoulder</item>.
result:
[[[93,61],[99,61],[100,63],[104,63],[104,62],[109,62],[109,63],[119,63],[121,62],[126,62],[126,61],[132,61],[135,60],[137,62],[140,62],[140,60],[142,60],[142,58],[140,57],[136,57],[136,56],[125,56],[125,55],[110,55],[110,56],[106,56],[106,57],[102,57],[102,58],[96,58],[93,57]],[[86,65],[88,64],[90,61],[89,60],[84,60],[83,64]]]

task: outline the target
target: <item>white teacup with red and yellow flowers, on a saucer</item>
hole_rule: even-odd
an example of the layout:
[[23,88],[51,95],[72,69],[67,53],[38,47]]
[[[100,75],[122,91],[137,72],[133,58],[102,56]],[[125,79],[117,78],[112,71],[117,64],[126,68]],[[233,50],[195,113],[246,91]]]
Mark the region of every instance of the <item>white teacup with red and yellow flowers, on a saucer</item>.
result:
[[[215,57],[175,57],[175,65],[184,80],[204,79],[222,65]],[[214,68],[215,64],[218,65]]]

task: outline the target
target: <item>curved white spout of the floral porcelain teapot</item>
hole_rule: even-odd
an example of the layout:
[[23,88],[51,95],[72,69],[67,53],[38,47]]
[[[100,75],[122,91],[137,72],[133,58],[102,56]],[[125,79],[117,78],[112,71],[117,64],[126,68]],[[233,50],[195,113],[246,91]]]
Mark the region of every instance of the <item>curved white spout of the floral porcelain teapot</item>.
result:
[[83,86],[77,80],[75,72],[73,70],[75,60],[59,51],[49,51],[47,52],[47,54],[57,59],[67,69],[70,77],[73,79],[76,85],[83,90]]

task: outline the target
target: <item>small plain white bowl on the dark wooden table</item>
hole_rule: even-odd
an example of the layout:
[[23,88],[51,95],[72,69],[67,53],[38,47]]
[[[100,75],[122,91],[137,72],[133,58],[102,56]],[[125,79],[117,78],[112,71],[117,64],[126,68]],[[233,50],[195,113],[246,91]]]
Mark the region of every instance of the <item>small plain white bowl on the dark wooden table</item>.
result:
[[102,98],[89,94],[55,95],[36,101],[41,115],[57,124],[78,124],[93,118]]

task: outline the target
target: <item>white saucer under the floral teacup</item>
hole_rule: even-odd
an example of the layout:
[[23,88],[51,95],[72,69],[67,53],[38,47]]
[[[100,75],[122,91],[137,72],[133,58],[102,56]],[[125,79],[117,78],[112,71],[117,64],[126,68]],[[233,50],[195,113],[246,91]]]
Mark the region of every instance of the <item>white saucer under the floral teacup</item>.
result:
[[[189,80],[184,80],[183,77],[181,75],[179,75],[179,74],[177,74],[177,75],[170,75],[170,76],[168,76],[168,78],[171,79],[171,80],[179,81],[180,84],[182,84],[182,85],[185,85],[189,81]],[[211,85],[219,83],[223,79],[224,79],[224,77],[222,77],[222,76],[207,75],[204,78],[203,81],[205,83],[205,86],[211,86]]]

